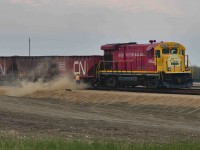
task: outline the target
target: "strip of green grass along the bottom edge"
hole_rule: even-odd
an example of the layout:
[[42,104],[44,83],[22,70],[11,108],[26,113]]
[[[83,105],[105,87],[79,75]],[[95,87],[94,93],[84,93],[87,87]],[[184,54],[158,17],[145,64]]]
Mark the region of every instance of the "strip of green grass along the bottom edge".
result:
[[0,150],[199,150],[200,142],[171,144],[0,137]]

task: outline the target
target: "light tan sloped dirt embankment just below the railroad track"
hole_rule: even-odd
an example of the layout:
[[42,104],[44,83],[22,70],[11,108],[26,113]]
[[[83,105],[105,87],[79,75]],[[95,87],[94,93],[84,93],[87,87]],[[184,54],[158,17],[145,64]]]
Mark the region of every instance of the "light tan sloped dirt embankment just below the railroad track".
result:
[[31,98],[60,99],[83,103],[129,103],[131,105],[162,105],[200,108],[200,97],[190,95],[167,95],[150,93],[130,93],[117,91],[65,90],[38,91],[29,95]]

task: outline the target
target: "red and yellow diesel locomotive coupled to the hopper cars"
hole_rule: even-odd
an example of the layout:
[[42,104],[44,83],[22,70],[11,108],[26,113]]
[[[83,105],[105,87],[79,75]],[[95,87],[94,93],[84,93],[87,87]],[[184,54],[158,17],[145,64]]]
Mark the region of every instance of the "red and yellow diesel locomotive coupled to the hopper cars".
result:
[[185,47],[176,42],[149,42],[101,46],[104,60],[97,67],[98,84],[108,87],[191,87],[192,73]]

